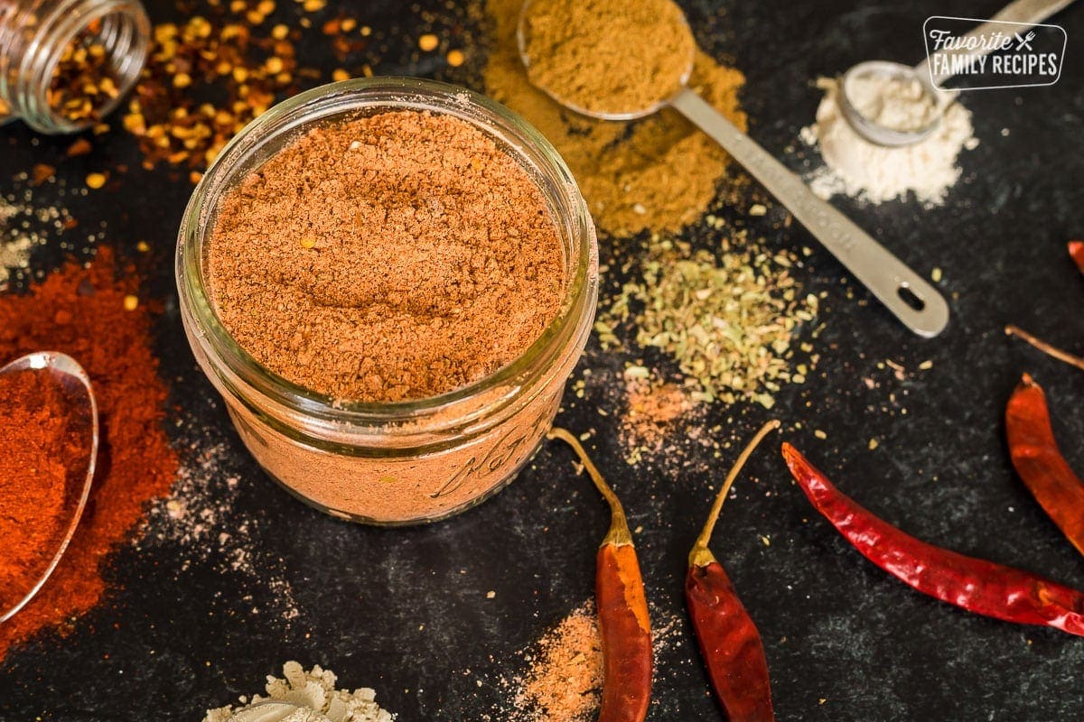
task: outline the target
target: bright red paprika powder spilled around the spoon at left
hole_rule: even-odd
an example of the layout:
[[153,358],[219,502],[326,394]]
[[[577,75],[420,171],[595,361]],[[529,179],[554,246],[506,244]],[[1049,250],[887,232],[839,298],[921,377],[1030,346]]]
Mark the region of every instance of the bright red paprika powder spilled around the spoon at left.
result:
[[[102,248],[89,267],[69,263],[26,296],[0,296],[0,364],[39,350],[62,351],[91,378],[100,412],[98,472],[82,521],[49,581],[0,625],[0,658],[43,630],[60,635],[106,592],[107,555],[165,495],[178,460],[163,425],[167,390],[151,352],[151,314],[138,303],[139,277],[117,273]],[[0,497],[0,515],[18,500]]]

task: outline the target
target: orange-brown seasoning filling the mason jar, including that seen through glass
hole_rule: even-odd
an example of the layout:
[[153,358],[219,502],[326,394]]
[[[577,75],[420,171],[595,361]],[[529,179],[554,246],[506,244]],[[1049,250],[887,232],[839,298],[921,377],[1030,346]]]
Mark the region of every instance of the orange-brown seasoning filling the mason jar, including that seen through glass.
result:
[[[570,283],[539,182],[479,127],[427,110],[312,127],[225,191],[207,233],[207,293],[227,332],[336,408],[433,399],[490,377],[539,340]],[[376,523],[439,518],[526,462],[578,355],[567,351],[499,425],[439,448],[428,436],[422,451],[371,429],[364,448],[327,449],[251,413],[260,398],[231,411],[264,469],[318,507]]]

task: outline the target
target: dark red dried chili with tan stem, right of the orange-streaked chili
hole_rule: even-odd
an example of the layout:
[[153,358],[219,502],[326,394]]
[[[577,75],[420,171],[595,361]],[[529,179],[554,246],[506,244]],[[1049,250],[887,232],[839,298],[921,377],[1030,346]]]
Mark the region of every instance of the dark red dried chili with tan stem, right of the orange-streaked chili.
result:
[[708,549],[708,542],[723,501],[746,460],[761,439],[778,428],[778,421],[769,421],[741,451],[715,497],[704,530],[697,537],[693,551],[688,553],[685,605],[700,644],[700,656],[704,657],[708,677],[711,678],[711,686],[726,710],[730,722],[774,721],[772,684],[757,625],[741,605],[723,565]]

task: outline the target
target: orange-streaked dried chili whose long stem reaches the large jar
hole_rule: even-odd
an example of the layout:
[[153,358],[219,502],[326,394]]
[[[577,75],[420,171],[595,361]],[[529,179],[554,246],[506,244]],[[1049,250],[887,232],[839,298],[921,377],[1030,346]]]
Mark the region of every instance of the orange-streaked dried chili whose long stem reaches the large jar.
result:
[[624,509],[576,436],[551,429],[576,451],[610,507],[610,528],[598,548],[595,606],[603,648],[603,696],[598,722],[643,722],[651,701],[651,626],[636,549]]

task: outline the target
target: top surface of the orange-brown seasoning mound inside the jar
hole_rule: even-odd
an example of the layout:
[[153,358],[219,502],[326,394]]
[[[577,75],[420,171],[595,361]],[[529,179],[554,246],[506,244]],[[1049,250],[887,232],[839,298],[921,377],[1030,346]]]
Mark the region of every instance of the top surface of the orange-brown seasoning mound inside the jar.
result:
[[557,228],[538,184],[448,115],[317,127],[222,198],[208,276],[223,326],[336,398],[436,396],[513,362],[557,316]]

